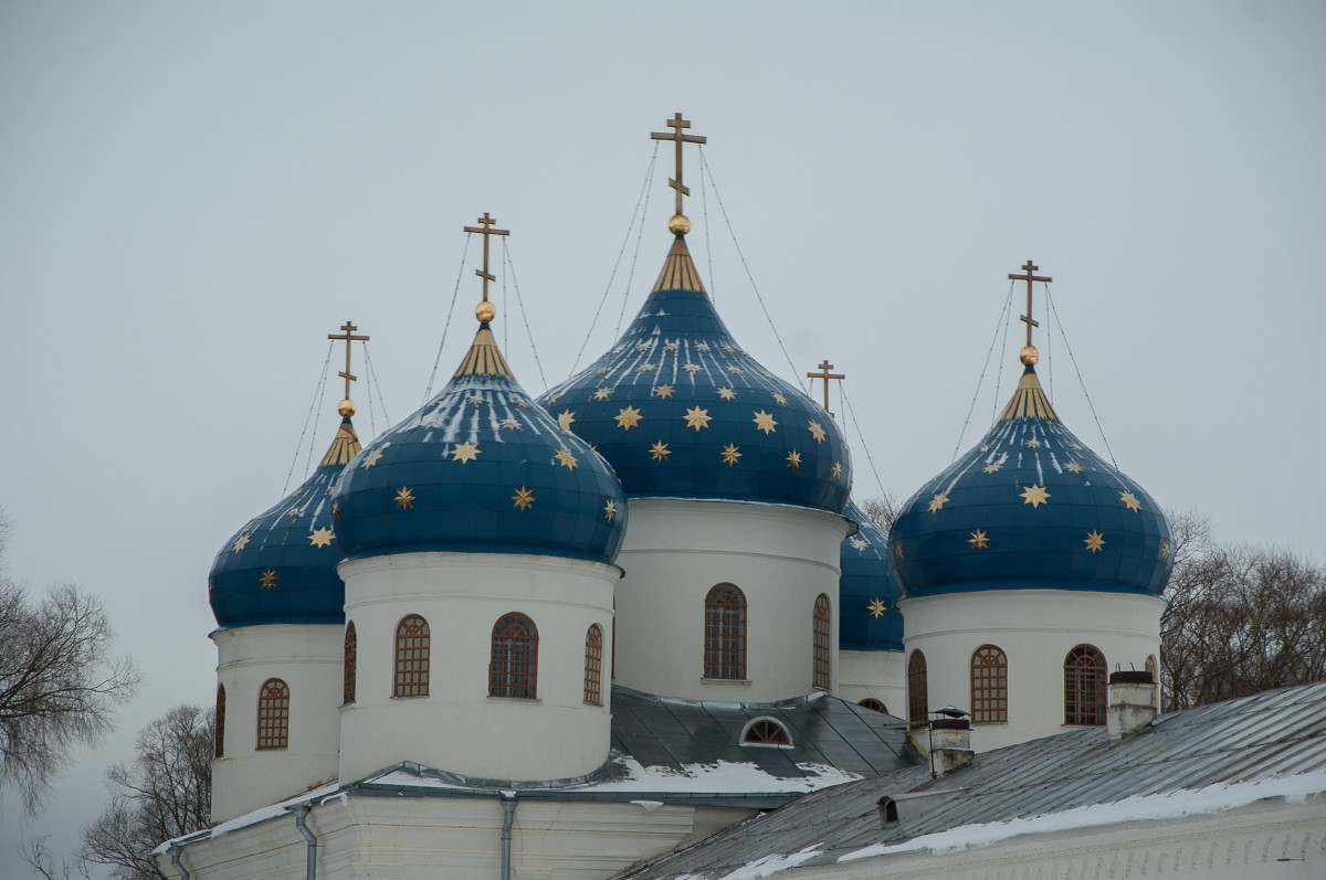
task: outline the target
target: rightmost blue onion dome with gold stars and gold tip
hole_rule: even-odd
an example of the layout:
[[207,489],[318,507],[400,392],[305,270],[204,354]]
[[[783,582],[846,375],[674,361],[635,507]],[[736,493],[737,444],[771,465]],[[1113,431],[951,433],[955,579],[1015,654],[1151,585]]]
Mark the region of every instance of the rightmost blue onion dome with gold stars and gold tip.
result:
[[1022,349],[1022,379],[994,425],[903,505],[890,550],[908,596],[1164,590],[1174,539],[1160,505],[1059,421],[1037,358]]

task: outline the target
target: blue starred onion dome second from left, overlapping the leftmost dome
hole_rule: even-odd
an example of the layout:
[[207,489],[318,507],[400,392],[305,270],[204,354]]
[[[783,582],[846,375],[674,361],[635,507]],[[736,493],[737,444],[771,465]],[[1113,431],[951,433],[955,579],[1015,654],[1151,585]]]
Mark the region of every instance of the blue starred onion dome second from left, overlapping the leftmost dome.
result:
[[508,553],[611,563],[626,498],[611,467],[533,403],[480,327],[451,382],[370,443],[334,493],[346,558]]

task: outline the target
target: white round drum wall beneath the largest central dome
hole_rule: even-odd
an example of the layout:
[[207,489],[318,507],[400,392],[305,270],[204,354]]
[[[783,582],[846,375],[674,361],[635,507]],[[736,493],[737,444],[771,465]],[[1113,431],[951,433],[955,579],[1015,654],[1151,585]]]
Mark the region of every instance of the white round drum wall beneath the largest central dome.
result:
[[[846,521],[831,513],[720,501],[630,501],[618,555],[619,685],[716,702],[773,702],[809,693],[815,598],[830,598],[831,672],[838,667],[838,551]],[[704,596],[733,583],[747,598],[747,680],[704,673]]]

